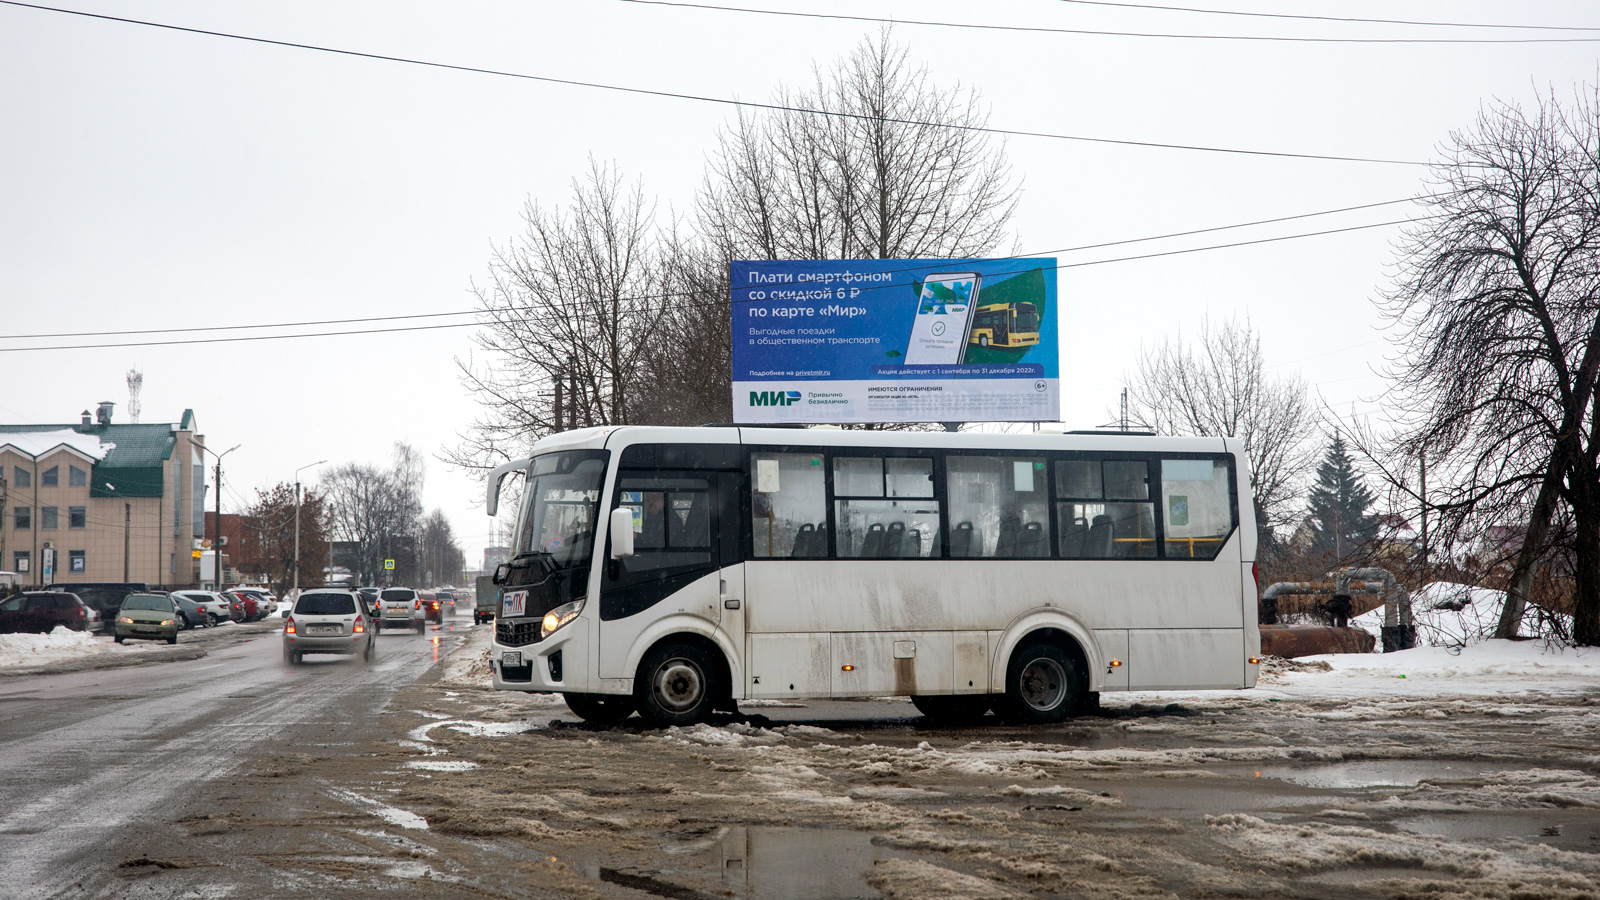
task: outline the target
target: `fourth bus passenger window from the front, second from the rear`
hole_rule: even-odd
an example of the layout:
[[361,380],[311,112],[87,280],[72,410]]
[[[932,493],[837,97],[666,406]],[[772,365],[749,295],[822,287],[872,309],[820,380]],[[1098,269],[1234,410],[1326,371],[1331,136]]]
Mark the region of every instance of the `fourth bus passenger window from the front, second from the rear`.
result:
[[1144,460],[1056,463],[1062,559],[1155,557],[1155,504],[1147,501],[1149,468]]

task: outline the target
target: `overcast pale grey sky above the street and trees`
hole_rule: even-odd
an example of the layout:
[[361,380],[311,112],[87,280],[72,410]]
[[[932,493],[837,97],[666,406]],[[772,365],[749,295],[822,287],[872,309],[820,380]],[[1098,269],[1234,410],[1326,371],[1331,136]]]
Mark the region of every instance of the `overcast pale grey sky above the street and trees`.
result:
[[[61,3],[387,56],[763,101],[875,30],[867,22],[621,0]],[[1539,37],[1003,0],[750,0],[768,10],[1166,34]],[[1451,22],[1600,26],[1584,2],[1192,0],[1194,6]],[[1434,159],[1480,104],[1562,94],[1600,43],[1288,43],[901,24],[942,85],[998,128],[1402,160]],[[1584,37],[1584,35],[1546,35]],[[1590,32],[1587,37],[1600,37]],[[242,43],[0,6],[0,338],[462,311],[525,199],[563,202],[592,154],[686,211],[733,107]],[[1400,219],[1384,207],[1082,253],[1061,248],[1403,199],[1426,170],[1011,138],[1024,253],[1061,263]],[[1382,391],[1397,226],[1064,267],[1062,416],[1107,420],[1141,344],[1206,312],[1248,315],[1277,372],[1341,413]],[[464,319],[453,319],[459,322]],[[405,325],[400,323],[400,325]],[[328,330],[328,328],[306,328]],[[144,372],[144,421],[194,408],[229,456],[222,504],[320,458],[429,455],[475,412],[454,357],[472,328],[189,346],[0,352],[0,421],[77,421]],[[168,335],[171,340],[182,335]],[[226,333],[211,336],[227,336]],[[131,340],[131,338],[130,338]],[[0,340],[19,346],[82,340]],[[314,479],[315,476],[309,476]],[[478,487],[443,463],[426,498],[469,560]]]

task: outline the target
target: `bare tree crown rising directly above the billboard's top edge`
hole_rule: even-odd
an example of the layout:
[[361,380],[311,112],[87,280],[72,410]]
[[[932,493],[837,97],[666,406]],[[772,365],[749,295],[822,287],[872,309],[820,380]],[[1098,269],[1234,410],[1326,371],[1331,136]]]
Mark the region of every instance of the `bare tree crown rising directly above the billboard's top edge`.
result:
[[978,93],[936,86],[885,29],[722,133],[699,231],[723,259],[984,256],[1018,184]]

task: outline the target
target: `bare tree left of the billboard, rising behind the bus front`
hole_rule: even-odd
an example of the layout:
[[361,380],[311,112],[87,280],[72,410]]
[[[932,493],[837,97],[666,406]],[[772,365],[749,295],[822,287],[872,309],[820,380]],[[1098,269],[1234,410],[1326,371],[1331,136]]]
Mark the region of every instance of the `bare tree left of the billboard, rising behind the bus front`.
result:
[[666,291],[643,187],[590,160],[565,210],[530,200],[523,221],[477,291],[486,359],[456,360],[482,412],[445,450],[454,464],[482,469],[555,431],[626,424],[646,388]]

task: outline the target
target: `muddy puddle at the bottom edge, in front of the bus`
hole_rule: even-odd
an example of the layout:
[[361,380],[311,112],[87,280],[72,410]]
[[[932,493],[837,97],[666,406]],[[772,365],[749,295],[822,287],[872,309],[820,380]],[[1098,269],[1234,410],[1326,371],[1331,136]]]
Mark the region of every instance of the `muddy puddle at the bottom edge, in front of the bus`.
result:
[[739,900],[878,898],[867,886],[877,860],[906,857],[866,831],[725,825],[701,839],[666,844],[659,870],[579,865],[587,876],[658,897]]

